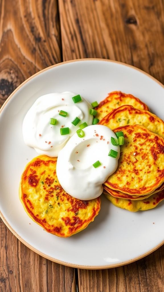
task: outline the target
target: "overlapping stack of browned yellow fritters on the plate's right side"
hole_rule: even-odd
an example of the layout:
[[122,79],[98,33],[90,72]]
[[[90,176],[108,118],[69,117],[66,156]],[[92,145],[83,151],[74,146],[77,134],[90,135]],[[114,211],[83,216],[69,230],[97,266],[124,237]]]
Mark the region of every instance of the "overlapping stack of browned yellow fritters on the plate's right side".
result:
[[104,183],[104,194],[129,211],[156,207],[164,199],[164,122],[139,99],[116,91],[97,111],[101,125],[124,133],[118,168]]

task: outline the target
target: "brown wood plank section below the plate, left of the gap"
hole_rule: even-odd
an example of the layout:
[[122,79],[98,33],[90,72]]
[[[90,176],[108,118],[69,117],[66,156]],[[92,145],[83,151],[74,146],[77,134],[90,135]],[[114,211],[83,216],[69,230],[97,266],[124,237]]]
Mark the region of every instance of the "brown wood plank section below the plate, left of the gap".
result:
[[0,219],[1,292],[75,292],[75,271],[46,260],[22,244]]

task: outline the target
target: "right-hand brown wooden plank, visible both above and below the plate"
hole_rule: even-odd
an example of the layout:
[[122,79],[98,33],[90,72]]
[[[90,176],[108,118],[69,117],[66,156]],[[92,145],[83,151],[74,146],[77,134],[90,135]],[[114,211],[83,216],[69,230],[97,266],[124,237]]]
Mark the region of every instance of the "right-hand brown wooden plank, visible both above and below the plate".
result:
[[[108,58],[164,83],[162,0],[59,0],[63,60]],[[164,246],[135,263],[78,270],[80,292],[163,291]]]

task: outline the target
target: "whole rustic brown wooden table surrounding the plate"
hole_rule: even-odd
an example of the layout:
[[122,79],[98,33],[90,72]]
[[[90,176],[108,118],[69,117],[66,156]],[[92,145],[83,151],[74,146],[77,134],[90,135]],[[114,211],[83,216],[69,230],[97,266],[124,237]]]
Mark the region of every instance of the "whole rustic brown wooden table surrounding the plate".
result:
[[[32,74],[77,58],[125,62],[164,83],[164,1],[0,0],[1,105]],[[164,246],[129,265],[80,270],[37,255],[1,220],[0,236],[2,292],[164,291]]]

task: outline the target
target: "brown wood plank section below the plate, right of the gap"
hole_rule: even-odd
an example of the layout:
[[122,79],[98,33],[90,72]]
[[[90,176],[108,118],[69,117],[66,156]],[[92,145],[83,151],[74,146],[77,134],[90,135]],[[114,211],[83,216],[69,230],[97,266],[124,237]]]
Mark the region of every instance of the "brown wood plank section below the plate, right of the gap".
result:
[[135,263],[108,270],[78,270],[79,292],[163,292],[164,248]]

